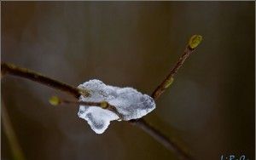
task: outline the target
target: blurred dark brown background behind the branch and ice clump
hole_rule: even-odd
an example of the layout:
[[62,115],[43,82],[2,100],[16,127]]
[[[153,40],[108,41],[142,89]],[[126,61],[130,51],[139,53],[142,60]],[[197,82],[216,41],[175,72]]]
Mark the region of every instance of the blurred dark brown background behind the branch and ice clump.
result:
[[[193,34],[204,39],[147,121],[197,159],[254,159],[254,2],[2,2],[1,58],[78,86],[92,78],[151,94]],[[95,134],[72,99],[19,77],[1,80],[26,159],[177,159],[141,129]],[[13,159],[1,129],[1,159]]]

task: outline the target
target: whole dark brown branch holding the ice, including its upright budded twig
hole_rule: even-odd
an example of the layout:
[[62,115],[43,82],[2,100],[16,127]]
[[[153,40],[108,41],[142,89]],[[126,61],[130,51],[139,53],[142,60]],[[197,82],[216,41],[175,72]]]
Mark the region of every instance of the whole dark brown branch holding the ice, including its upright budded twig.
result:
[[[201,43],[201,39],[202,37],[199,35],[194,35],[193,37],[190,38],[189,44],[187,45],[184,51],[184,54],[180,57],[179,60],[177,60],[176,65],[172,68],[172,70],[170,71],[166,79],[162,83],[160,83],[157,89],[154,90],[152,94],[152,98],[154,98],[154,100],[157,100],[160,97],[160,95],[163,94],[164,91],[170,86],[170,84],[173,81],[173,77],[177,73],[178,69],[181,66],[183,66],[184,61],[195,50],[197,45]],[[58,89],[68,94],[72,94],[77,99],[79,99],[80,95],[84,95],[84,96],[90,95],[90,93],[86,89],[81,90],[73,86],[70,86],[67,83],[61,83],[50,77],[45,77],[36,71],[31,71],[26,68],[15,66],[13,64],[1,62],[1,77],[3,77],[3,75],[5,74],[10,74],[17,77],[24,77],[34,82],[42,83],[53,89]],[[93,104],[93,105],[101,106],[102,104]],[[184,160],[192,159],[192,157],[190,157],[186,151],[183,151],[181,147],[177,146],[176,143],[168,139],[165,134],[162,134],[159,130],[154,129],[154,127],[148,124],[146,121],[144,121],[143,118],[130,120],[128,122],[135,124],[140,129],[143,129],[147,134],[151,135],[155,140],[160,142],[160,144],[162,144],[163,146],[166,146],[166,148],[169,149],[170,151],[175,152],[177,154],[177,157],[179,157],[180,159],[184,159]]]

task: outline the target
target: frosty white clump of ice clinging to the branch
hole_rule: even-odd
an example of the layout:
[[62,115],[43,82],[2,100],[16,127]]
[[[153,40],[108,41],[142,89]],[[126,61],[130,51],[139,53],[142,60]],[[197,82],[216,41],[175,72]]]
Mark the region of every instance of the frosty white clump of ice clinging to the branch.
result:
[[[81,95],[80,101],[107,101],[109,105],[115,106],[125,121],[143,117],[155,108],[154,100],[136,89],[113,87],[96,79],[80,84],[78,88],[90,91],[90,96]],[[119,116],[113,111],[98,106],[79,106],[78,114],[96,134],[102,134],[108,129],[110,121],[119,120]]]

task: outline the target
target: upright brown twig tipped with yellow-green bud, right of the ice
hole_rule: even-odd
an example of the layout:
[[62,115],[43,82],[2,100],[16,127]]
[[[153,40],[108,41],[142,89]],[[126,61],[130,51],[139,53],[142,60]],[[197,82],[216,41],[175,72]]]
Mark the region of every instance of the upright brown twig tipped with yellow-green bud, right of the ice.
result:
[[175,66],[172,67],[172,70],[168,74],[168,76],[164,79],[162,83],[154,90],[153,94],[151,95],[154,100],[157,100],[161,94],[165,92],[165,90],[170,86],[173,81],[173,77],[177,73],[178,69],[183,66],[183,63],[190,54],[195,50],[197,45],[201,43],[202,37],[199,35],[194,35],[190,38],[189,44],[187,45],[186,49],[184,50],[183,55],[177,60]]

